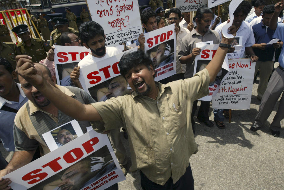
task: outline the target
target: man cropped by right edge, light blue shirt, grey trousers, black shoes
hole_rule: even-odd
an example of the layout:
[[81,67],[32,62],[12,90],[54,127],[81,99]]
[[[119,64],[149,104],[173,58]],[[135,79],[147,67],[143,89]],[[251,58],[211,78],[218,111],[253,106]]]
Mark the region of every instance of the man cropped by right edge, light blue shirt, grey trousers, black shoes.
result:
[[[273,38],[278,38],[281,41],[283,41],[284,24],[277,23],[277,19],[280,12],[283,10],[284,1],[278,2],[277,4],[275,4],[274,7],[275,7],[275,12],[271,17],[269,28],[275,30],[275,33],[272,36]],[[284,90],[284,48],[282,48],[278,60],[280,65],[275,69],[267,84],[267,89],[265,90],[264,95],[261,99],[261,103],[259,105],[258,114],[254,118],[253,124],[251,126],[252,131],[257,131],[259,130],[260,127],[263,126],[264,122],[271,114],[275,106],[275,103],[282,94],[281,99],[279,101],[278,110],[273,118],[273,122],[270,124],[270,130],[274,137],[280,136],[280,128],[281,128],[280,121],[284,117],[284,95],[282,93]]]

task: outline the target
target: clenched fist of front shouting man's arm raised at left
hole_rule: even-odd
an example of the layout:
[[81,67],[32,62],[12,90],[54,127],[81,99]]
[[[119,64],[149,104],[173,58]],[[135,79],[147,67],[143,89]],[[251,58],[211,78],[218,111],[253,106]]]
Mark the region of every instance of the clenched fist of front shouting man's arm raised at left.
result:
[[28,55],[17,55],[16,72],[22,76],[28,83],[34,87],[41,86],[44,83],[44,78],[40,69],[37,69]]

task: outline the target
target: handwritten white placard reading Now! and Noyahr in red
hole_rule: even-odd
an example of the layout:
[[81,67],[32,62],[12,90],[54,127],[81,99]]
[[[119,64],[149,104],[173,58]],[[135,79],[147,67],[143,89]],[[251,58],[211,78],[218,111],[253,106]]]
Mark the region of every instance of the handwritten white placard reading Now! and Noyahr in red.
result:
[[255,62],[251,59],[229,59],[228,72],[222,79],[218,93],[212,99],[213,108],[249,109]]

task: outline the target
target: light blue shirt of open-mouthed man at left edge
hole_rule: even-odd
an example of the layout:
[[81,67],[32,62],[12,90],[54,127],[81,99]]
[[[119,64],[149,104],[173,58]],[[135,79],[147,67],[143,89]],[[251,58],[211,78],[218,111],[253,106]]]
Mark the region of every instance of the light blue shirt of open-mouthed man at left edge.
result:
[[[16,85],[20,91],[19,102],[8,101],[0,96],[0,108],[5,105],[9,108],[19,110],[20,107],[22,107],[26,103],[26,101],[28,101],[28,98],[26,98],[21,88],[21,84],[16,83]],[[15,116],[16,113],[14,112],[4,111],[0,109],[0,139],[2,140],[3,146],[7,151],[15,150],[13,138],[13,123]]]

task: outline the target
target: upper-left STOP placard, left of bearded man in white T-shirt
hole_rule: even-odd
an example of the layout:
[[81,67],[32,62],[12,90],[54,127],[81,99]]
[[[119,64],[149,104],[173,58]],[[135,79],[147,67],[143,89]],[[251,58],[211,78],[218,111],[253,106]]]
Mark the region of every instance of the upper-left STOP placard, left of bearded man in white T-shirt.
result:
[[54,65],[57,84],[61,86],[70,84],[70,73],[89,52],[91,50],[84,46],[55,46]]

